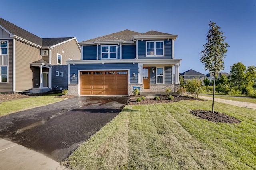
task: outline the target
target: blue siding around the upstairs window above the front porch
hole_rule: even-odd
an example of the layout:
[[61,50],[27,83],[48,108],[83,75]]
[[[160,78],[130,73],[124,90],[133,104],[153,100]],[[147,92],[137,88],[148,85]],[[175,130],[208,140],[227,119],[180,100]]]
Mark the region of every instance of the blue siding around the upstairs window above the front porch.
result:
[[172,59],[172,40],[164,40],[164,57],[146,57],[146,40],[138,41],[138,56],[139,59],[158,58]]

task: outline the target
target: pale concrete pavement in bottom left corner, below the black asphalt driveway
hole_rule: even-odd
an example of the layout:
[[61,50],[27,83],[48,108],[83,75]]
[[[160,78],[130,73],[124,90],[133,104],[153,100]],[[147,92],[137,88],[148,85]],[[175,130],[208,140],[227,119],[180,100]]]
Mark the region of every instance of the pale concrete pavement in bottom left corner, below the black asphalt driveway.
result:
[[43,154],[2,138],[0,160],[0,169],[3,170],[67,170]]

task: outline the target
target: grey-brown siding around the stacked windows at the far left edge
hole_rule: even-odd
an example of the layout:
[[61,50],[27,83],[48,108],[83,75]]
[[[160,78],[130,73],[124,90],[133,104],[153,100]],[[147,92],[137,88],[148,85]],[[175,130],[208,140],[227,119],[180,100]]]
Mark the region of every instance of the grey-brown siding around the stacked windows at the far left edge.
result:
[[13,39],[4,39],[9,40],[9,47],[8,47],[8,83],[2,82],[0,83],[0,92],[13,92]]

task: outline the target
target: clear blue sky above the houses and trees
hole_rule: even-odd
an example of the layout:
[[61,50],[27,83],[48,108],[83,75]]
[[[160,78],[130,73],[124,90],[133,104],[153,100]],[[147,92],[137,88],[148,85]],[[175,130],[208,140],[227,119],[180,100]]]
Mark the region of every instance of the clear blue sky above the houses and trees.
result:
[[0,17],[41,37],[76,37],[78,42],[130,29],[178,35],[180,72],[203,74],[200,52],[209,22],[230,45],[222,72],[242,62],[256,66],[256,0],[0,0]]

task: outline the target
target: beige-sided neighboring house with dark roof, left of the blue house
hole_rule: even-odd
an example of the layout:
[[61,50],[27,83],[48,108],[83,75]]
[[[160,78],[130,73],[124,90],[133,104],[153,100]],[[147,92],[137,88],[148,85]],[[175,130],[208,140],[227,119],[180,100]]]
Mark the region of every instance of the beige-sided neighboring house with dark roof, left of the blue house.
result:
[[0,44],[1,93],[68,88],[66,61],[81,58],[76,38],[40,38],[2,18]]

